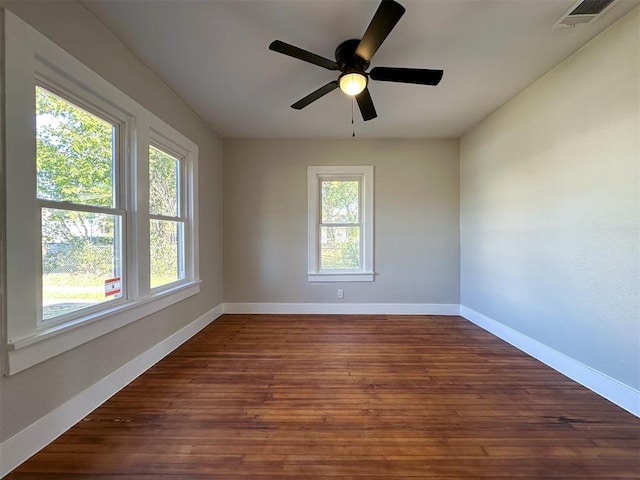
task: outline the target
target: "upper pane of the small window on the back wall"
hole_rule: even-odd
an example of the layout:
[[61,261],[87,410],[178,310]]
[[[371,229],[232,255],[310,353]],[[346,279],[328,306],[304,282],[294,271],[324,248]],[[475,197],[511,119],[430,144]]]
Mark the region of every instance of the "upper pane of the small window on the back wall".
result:
[[357,180],[323,180],[321,182],[321,223],[358,223]]

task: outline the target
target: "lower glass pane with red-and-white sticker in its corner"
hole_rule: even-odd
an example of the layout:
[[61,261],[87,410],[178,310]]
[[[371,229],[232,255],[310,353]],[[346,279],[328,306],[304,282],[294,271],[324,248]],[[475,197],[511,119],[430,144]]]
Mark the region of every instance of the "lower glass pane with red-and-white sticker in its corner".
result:
[[121,218],[42,209],[42,319],[122,297]]

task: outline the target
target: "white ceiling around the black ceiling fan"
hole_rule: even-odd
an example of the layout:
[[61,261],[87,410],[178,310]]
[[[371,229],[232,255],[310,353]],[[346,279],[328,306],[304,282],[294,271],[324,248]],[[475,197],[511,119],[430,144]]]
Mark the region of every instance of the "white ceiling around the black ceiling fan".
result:
[[[399,0],[407,13],[371,62],[442,68],[437,87],[372,81],[378,118],[363,138],[458,137],[622,17],[618,0],[590,25],[552,28],[575,0]],[[223,137],[351,136],[351,98],[336,90],[290,105],[334,80],[268,50],[282,40],[333,59],[360,38],[379,0],[85,0],[83,4]]]

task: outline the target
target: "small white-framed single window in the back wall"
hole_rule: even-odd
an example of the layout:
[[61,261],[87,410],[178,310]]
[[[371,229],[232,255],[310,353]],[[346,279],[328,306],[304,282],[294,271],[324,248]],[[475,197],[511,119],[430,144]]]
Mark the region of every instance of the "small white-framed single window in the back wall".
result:
[[313,282],[373,281],[373,167],[308,167]]

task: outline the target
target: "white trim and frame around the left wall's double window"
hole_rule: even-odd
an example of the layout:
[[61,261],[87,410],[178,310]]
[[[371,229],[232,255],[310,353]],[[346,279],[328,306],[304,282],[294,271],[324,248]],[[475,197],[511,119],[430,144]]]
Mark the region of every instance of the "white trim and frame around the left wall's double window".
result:
[[[200,291],[198,268],[198,147],[126,94],[52,43],[13,13],[5,21],[5,178],[3,317],[4,374],[12,375],[132,323]],[[126,211],[123,239],[126,294],[103,309],[62,321],[38,322],[41,259],[40,206],[34,177],[36,82],[58,86],[79,104],[107,112],[122,126],[120,208]],[[148,281],[149,142],[184,159],[185,280],[151,290]],[[134,186],[135,183],[135,186]],[[144,188],[144,186],[147,188]],[[188,225],[187,225],[188,224]],[[146,232],[144,225],[147,225]]]

